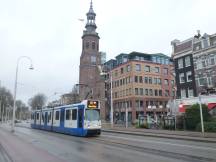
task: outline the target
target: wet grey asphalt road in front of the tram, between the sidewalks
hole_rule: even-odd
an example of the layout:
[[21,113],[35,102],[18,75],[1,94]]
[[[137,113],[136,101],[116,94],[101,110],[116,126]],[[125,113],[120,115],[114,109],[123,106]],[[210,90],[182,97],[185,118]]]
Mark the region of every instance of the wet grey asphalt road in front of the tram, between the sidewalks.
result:
[[216,144],[102,133],[81,138],[17,127],[16,136],[65,161],[208,162],[216,161]]

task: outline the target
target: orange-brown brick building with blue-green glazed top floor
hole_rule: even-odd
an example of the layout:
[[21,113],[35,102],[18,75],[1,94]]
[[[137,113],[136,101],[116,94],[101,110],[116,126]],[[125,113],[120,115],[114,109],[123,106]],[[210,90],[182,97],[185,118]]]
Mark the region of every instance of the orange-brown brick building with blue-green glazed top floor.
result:
[[[116,60],[106,62],[105,67],[112,75],[114,116],[118,114],[125,120],[127,109],[129,121],[134,122],[140,114],[167,114],[167,103],[174,95],[175,84],[168,56],[138,52],[120,54]],[[106,81],[108,99],[110,78]]]

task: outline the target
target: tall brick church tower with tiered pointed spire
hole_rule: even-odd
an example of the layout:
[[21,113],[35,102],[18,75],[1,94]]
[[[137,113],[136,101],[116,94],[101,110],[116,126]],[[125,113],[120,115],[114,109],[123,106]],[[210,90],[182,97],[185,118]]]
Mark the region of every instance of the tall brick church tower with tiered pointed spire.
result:
[[[82,36],[82,54],[80,57],[79,93],[81,100],[87,98],[100,99],[101,93],[98,88],[102,85],[98,65],[101,64],[99,53],[99,35],[96,32],[96,14],[93,10],[92,1],[87,16],[85,30]],[[100,89],[100,88],[99,88]]]

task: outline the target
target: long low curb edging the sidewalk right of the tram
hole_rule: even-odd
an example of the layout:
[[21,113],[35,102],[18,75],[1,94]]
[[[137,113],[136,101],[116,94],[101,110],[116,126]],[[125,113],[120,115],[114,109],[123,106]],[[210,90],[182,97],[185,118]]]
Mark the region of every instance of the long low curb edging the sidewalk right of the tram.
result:
[[[127,134],[127,135],[134,135],[134,136],[146,136],[146,137],[156,137],[156,138],[170,138],[170,139],[177,139],[177,140],[186,140],[186,141],[195,141],[195,142],[207,142],[207,143],[216,143],[216,140],[211,140],[209,138],[200,137],[189,137],[189,136],[176,136],[176,135],[163,135],[163,134],[151,134],[151,133],[134,133],[134,132],[127,132],[127,131],[118,131],[118,130],[108,130],[102,129],[102,132],[108,133],[119,133],[119,134]],[[188,138],[186,138],[188,137]]]

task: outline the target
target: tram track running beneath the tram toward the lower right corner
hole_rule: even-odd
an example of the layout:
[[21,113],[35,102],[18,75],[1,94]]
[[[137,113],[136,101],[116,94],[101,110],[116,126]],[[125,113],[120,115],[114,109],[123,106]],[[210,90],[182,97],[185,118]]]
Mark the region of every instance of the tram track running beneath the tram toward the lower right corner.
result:
[[[31,129],[30,127],[25,127],[25,126],[18,126],[18,127]],[[42,131],[40,131],[39,133],[41,132]],[[73,142],[97,143],[97,144],[101,144],[101,145],[105,145],[109,147],[133,150],[139,153],[147,153],[147,154],[152,154],[152,155],[157,155],[157,156],[162,156],[162,157],[172,158],[172,159],[181,159],[182,161],[187,161],[187,162],[215,162],[216,161],[215,159],[212,159],[212,158],[206,158],[206,157],[201,157],[201,156],[176,153],[176,152],[168,151],[168,150],[159,150],[155,148],[137,146],[137,145],[126,143],[125,141],[122,141],[122,140],[115,141],[113,139],[108,139],[106,138],[106,136],[103,136],[103,135],[98,136],[98,137],[83,138],[83,137],[74,137],[74,136],[60,134],[60,133],[51,133],[48,131],[45,131],[45,132],[46,134],[52,135],[53,137],[62,138],[62,136],[64,136],[65,140],[70,140],[70,141],[73,140]]]

